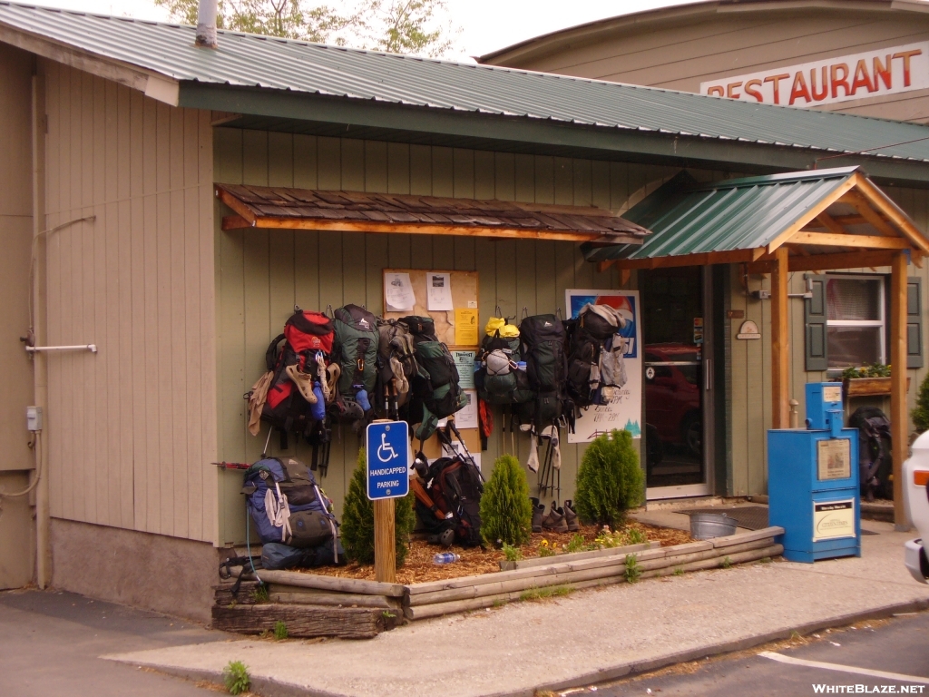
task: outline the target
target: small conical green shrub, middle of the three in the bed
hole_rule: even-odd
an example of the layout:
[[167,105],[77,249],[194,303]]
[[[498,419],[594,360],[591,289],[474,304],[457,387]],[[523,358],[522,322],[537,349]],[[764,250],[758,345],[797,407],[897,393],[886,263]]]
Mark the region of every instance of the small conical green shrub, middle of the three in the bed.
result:
[[491,545],[529,542],[532,532],[532,502],[526,472],[513,455],[498,457],[491,479],[480,497],[480,532]]

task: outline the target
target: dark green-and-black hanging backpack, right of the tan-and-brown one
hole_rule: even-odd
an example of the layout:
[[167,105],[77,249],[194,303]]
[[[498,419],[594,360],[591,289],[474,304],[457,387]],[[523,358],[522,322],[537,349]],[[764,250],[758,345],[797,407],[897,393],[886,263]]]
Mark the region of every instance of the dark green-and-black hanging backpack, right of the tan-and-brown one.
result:
[[416,438],[425,441],[436,432],[438,419],[464,409],[467,395],[458,384],[458,368],[449,348],[438,340],[436,325],[428,317],[404,317],[410,329],[419,372],[413,377],[408,419],[419,424]]

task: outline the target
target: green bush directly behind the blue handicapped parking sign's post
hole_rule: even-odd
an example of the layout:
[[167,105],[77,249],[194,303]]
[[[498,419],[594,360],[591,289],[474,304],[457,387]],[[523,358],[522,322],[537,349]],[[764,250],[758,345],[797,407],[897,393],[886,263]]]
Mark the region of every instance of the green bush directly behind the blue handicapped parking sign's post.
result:
[[[365,491],[364,448],[358,452],[358,467],[348,482],[342,513],[342,545],[346,557],[360,564],[374,561],[374,506]],[[397,566],[403,566],[410,550],[410,533],[416,527],[412,508],[412,492],[394,499],[394,531],[397,538]]]

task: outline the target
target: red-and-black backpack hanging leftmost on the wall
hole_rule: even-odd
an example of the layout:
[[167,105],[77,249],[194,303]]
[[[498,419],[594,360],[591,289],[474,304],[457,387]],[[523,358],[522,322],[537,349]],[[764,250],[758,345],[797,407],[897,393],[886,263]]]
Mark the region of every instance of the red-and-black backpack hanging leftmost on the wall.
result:
[[326,430],[326,365],[333,340],[329,318],[294,307],[283,334],[268,344],[265,364],[271,378],[261,419],[278,429],[282,450],[288,447],[289,433],[312,441]]

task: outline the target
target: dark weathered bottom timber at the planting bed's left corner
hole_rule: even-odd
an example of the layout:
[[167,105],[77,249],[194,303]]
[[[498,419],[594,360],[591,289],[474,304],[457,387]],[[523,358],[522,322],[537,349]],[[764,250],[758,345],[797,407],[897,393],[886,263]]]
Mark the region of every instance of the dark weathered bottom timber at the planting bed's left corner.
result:
[[386,629],[383,610],[333,608],[322,605],[213,606],[213,628],[242,634],[273,631],[278,622],[287,625],[289,637],[373,638]]

